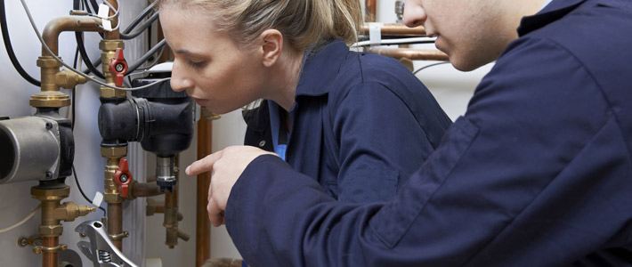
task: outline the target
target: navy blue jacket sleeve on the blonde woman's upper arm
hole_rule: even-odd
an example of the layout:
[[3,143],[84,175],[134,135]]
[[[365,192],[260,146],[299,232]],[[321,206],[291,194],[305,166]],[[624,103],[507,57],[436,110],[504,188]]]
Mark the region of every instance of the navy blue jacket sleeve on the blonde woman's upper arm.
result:
[[[415,89],[427,91],[420,84]],[[420,125],[416,116],[445,116],[442,109],[434,105],[426,107],[434,110],[413,114],[391,90],[377,82],[356,85],[334,116],[340,201],[392,199],[434,150],[424,127],[445,129],[450,125]],[[428,97],[433,98],[430,93]]]

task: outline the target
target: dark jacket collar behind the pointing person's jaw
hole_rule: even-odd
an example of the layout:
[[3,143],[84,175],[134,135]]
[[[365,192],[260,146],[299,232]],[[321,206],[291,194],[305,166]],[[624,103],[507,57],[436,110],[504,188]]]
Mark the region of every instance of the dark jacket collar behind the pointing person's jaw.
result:
[[547,26],[547,24],[559,20],[587,0],[553,0],[544,9],[535,15],[524,17],[518,27],[518,35],[524,36],[531,31]]

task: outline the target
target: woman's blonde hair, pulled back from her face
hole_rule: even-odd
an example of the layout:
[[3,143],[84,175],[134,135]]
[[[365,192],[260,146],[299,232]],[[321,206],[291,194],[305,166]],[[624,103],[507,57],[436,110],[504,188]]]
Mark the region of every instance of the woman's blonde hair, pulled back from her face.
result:
[[362,23],[359,0],[158,0],[159,7],[167,4],[208,11],[217,29],[242,46],[269,28],[296,51],[334,38],[352,44]]

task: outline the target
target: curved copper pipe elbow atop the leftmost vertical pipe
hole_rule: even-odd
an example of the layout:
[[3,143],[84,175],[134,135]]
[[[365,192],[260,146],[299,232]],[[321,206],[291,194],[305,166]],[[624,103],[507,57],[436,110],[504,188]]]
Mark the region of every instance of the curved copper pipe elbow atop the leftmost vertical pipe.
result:
[[[59,41],[58,38],[61,32],[64,31],[97,31],[101,32],[103,29],[99,27],[101,25],[101,19],[88,16],[66,16],[53,19],[46,24],[42,38],[48,45],[48,48],[55,55],[59,55]],[[44,47],[42,47],[42,55],[48,55]]]

